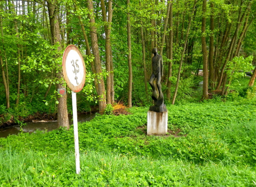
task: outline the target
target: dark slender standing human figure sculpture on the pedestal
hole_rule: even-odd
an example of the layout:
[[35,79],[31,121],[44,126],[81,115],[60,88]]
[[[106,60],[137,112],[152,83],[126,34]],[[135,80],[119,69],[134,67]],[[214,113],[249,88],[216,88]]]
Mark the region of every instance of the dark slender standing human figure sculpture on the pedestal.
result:
[[[166,112],[166,105],[163,103],[163,93],[161,86],[161,77],[163,76],[163,58],[157,53],[157,48],[152,49],[154,57],[152,58],[152,74],[150,77],[150,86],[153,90],[152,99],[154,100],[153,106],[150,106],[151,111],[155,112]],[[156,90],[154,81],[156,79]]]

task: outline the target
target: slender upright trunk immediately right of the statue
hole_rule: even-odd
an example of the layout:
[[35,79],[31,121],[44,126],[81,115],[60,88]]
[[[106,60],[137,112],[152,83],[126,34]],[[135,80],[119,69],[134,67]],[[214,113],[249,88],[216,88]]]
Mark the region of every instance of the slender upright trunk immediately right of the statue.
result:
[[170,2],[170,15],[169,15],[169,63],[168,63],[168,76],[167,76],[167,99],[170,101],[170,77],[172,76],[172,61],[173,61],[173,2]]

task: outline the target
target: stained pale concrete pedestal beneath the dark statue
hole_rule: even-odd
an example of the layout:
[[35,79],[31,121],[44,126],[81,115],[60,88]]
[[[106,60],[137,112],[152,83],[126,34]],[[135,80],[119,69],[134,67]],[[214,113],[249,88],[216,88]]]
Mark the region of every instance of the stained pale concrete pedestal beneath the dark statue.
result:
[[147,135],[166,135],[167,133],[167,112],[147,112]]

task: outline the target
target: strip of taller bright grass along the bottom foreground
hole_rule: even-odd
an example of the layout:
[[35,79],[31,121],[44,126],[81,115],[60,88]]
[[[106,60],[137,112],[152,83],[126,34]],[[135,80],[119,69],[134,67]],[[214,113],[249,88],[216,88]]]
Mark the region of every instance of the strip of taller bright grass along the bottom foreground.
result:
[[75,174],[74,154],[8,148],[0,153],[1,186],[254,186],[255,168],[222,162],[86,151]]

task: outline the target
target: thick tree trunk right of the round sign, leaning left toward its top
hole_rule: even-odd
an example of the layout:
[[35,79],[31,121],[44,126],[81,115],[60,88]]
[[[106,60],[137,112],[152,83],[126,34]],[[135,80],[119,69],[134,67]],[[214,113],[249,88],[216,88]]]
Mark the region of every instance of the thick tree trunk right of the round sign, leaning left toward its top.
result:
[[93,55],[95,57],[95,71],[100,76],[98,79],[98,95],[99,95],[99,113],[104,114],[104,110],[106,108],[106,95],[105,95],[105,85],[104,85],[104,79],[103,76],[100,75],[102,73],[101,69],[101,61],[99,56],[99,46],[98,46],[98,38],[97,38],[97,31],[95,26],[95,19],[93,15],[93,1],[88,0],[88,9],[90,11],[89,13],[89,19],[90,19],[90,36],[92,41],[92,49],[93,49]]

